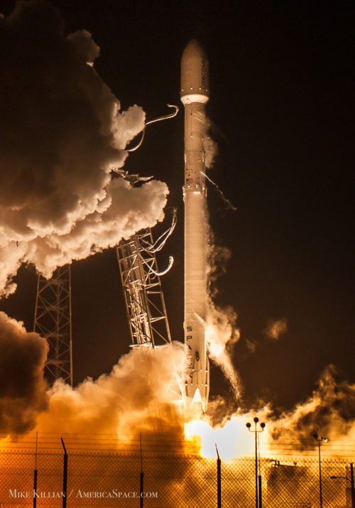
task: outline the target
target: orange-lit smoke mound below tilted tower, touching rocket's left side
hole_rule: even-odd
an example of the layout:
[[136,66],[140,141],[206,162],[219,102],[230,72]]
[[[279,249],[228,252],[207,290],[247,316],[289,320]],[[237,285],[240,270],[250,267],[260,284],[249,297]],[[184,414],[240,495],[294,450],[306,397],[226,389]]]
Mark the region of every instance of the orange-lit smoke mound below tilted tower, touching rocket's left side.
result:
[[61,381],[50,391],[49,409],[38,429],[46,432],[182,434],[182,412],[175,394],[175,374],[185,364],[183,345],[133,348],[110,374],[86,379],[72,389]]

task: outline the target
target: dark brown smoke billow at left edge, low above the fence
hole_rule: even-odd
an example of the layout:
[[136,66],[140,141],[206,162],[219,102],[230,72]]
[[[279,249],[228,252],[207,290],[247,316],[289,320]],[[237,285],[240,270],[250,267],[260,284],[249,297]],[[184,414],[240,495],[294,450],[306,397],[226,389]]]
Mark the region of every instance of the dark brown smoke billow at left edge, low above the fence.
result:
[[0,432],[23,433],[48,404],[47,341],[0,312]]

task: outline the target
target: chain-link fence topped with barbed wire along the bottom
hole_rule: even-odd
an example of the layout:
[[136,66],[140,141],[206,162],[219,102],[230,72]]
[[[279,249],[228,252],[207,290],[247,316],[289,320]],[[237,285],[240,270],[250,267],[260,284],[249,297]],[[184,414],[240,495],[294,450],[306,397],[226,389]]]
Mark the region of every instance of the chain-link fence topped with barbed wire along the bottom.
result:
[[[36,507],[62,507],[63,453],[40,450],[36,459]],[[70,452],[67,507],[139,507],[143,464],[146,508],[217,507],[217,460],[198,455]],[[263,507],[320,507],[319,462],[315,458],[261,458]],[[0,507],[33,507],[35,454],[0,452]],[[323,507],[351,507],[349,462],[322,460]],[[331,476],[339,478],[332,479]],[[255,507],[253,458],[222,460],[222,507]]]

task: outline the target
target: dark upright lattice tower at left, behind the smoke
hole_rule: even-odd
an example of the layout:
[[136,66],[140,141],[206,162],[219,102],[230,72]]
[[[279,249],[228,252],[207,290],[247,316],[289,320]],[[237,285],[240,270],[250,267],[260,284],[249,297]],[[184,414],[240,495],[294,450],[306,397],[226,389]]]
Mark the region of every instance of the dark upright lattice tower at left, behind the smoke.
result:
[[40,274],[35,297],[33,331],[45,337],[48,381],[62,378],[72,386],[72,290],[70,264],[60,266],[51,279]]

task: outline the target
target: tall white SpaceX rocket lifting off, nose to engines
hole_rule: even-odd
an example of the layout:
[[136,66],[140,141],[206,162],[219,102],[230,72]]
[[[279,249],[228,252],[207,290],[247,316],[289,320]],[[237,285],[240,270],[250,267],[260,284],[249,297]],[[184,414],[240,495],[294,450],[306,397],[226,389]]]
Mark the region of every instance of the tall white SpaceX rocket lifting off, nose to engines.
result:
[[181,58],[181,101],[185,109],[185,396],[187,405],[209,395],[209,360],[204,328],[207,315],[208,222],[205,186],[205,104],[209,99],[208,60],[197,40]]

